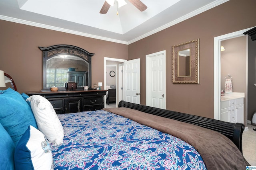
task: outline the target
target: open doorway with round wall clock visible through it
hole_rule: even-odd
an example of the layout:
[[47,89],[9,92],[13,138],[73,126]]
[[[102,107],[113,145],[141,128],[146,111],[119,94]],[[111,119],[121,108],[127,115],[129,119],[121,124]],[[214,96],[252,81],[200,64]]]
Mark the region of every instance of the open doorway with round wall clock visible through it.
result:
[[[104,98],[106,107],[118,107],[118,102],[122,100],[122,65],[124,59],[114,59],[104,57],[104,89],[109,91]],[[114,95],[114,96],[113,96]]]

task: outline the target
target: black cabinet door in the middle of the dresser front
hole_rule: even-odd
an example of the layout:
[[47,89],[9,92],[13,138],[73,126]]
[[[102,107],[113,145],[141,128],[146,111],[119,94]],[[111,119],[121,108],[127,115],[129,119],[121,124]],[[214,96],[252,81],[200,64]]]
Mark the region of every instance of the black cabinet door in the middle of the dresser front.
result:
[[82,104],[82,98],[66,98],[66,99],[64,99],[65,113],[80,112],[81,104]]

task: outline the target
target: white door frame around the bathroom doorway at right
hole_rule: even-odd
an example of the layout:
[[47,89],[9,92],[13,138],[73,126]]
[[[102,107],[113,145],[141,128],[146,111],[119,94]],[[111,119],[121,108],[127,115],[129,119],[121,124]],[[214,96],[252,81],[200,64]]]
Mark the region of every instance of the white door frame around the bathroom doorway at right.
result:
[[[227,40],[227,39],[232,39],[236,37],[241,37],[241,36],[247,36],[244,35],[243,33],[245,31],[248,31],[249,29],[243,29],[240,31],[236,31],[233,33],[228,33],[225,35],[220,35],[218,37],[214,37],[214,119],[220,120],[220,74],[221,74],[221,66],[220,66],[220,45],[221,41]],[[248,47],[246,47],[248,49]],[[245,100],[246,100],[246,112],[247,112],[247,82],[248,82],[248,52],[246,51],[246,95],[245,95]],[[247,120],[247,114],[244,117],[245,120]]]

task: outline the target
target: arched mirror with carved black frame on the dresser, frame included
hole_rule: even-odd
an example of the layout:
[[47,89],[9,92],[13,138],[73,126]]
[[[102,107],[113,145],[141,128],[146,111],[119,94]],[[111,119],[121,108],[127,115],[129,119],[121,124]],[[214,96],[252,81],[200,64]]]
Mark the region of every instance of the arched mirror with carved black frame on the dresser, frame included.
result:
[[43,90],[56,86],[66,90],[65,82],[76,82],[77,90],[92,86],[91,57],[94,53],[73,45],[39,47],[43,52]]

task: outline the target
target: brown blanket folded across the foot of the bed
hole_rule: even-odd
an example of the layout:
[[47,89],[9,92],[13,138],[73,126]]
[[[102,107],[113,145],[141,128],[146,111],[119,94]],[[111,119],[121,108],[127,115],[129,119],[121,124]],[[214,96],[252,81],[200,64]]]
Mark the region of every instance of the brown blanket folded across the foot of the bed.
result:
[[208,170],[244,170],[246,165],[249,165],[236,145],[216,131],[126,107],[104,108],[104,110],[189,143],[200,153]]

